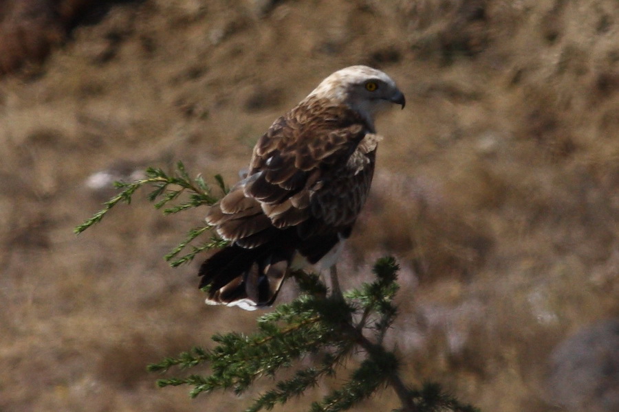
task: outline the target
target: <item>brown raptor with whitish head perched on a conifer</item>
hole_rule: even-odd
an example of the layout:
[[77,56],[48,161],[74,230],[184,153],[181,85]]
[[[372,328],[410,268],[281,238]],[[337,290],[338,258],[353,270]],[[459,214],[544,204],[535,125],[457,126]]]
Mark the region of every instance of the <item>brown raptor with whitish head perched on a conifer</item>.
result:
[[298,258],[335,264],[369,192],[380,137],[374,115],[404,95],[382,71],[336,71],[276,119],[249,171],[206,222],[230,246],[199,270],[207,304],[253,310],[275,300]]

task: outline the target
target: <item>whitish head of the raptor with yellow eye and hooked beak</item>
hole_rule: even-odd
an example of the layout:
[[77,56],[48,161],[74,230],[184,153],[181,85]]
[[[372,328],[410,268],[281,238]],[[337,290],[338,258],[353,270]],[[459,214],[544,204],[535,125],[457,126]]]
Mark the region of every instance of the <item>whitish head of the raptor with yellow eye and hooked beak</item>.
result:
[[345,104],[370,123],[373,123],[374,115],[389,103],[400,104],[402,108],[406,104],[404,94],[387,74],[367,66],[351,66],[336,71],[307,96],[311,97],[333,104]]

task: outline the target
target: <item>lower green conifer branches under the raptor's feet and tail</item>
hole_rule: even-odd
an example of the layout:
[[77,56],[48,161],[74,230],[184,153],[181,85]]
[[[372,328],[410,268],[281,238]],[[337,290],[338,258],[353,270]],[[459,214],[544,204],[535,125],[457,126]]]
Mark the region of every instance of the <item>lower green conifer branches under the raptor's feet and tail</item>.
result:
[[[216,346],[212,350],[198,354],[194,349],[193,353],[185,352],[178,358],[166,358],[160,364],[151,365],[149,370],[208,367],[211,374],[202,380],[197,380],[195,375],[158,380],[160,386],[189,385],[193,387],[190,391],[193,397],[217,389],[232,389],[240,394],[258,378],[292,369],[292,378],[277,380],[273,389],[262,393],[246,409],[246,412],[259,412],[285,404],[318,385],[325,376],[336,375],[346,359],[362,350],[365,359],[347,381],[322,400],[313,402],[310,411],[346,411],[388,386],[393,386],[402,400],[403,412],[474,411],[440,390],[438,394],[431,391],[436,387],[413,391],[402,383],[398,358],[382,345],[382,337],[397,312],[393,297],[398,268],[393,258],[378,260],[373,268],[376,281],[347,293],[347,301],[325,297],[322,291],[326,288],[316,275],[295,273],[296,279],[302,279],[305,292],[289,304],[280,304],[261,316],[256,332],[216,334],[213,336]],[[318,291],[318,295],[307,291]],[[369,318],[377,319],[376,323],[368,325]],[[367,330],[375,331],[373,339],[366,336]],[[323,361],[318,366],[296,369],[309,354],[321,354]]]

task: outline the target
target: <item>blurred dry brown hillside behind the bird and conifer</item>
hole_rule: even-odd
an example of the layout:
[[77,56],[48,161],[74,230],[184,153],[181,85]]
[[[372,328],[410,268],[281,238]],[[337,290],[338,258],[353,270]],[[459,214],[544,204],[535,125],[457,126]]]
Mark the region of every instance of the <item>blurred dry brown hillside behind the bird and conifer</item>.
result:
[[618,411],[616,0],[0,2],[0,411],[246,407],[145,371],[260,314],[205,306],[202,258],[164,262],[205,211],[142,192],[72,230],[147,166],[234,183],[276,117],[356,64],[407,104],[378,119],[340,273],[398,258],[404,379],[482,411]]

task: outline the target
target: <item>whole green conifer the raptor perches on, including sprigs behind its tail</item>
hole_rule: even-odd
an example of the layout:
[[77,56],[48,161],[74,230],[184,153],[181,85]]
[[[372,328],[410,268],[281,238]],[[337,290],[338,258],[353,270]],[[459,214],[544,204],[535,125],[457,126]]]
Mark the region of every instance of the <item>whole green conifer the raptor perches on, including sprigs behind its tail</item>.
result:
[[[228,192],[229,187],[221,176],[215,176],[215,183],[222,194]],[[191,179],[181,162],[172,174],[149,168],[144,179],[116,182],[115,185],[120,192],[107,201],[103,209],[76,227],[76,233],[100,222],[118,203],[131,203],[133,194],[145,186],[153,188],[146,198],[166,215],[213,205],[217,201],[202,176]],[[164,258],[171,266],[178,266],[193,260],[202,251],[225,247],[228,242],[210,233],[210,229],[202,225],[189,230],[184,240]],[[194,244],[204,236],[210,238]],[[181,255],[187,248],[190,250]],[[345,411],[390,386],[402,404],[398,409],[401,412],[474,412],[473,407],[460,404],[439,385],[426,384],[421,389],[411,389],[402,381],[398,357],[383,345],[384,336],[398,314],[393,303],[398,291],[398,270],[394,258],[379,259],[373,266],[376,280],[348,291],[343,299],[341,295],[339,299],[327,296],[325,284],[315,273],[293,271],[290,276],[301,288],[301,296],[259,317],[256,332],[215,334],[212,338],[215,347],[193,347],[177,357],[149,365],[148,369],[165,373],[171,368],[184,371],[208,367],[210,374],[206,376],[189,374],[157,381],[159,387],[188,385],[192,388],[191,397],[218,389],[232,389],[240,394],[259,378],[292,371],[292,377],[276,380],[272,389],[258,396],[246,409],[246,412],[259,412],[301,396],[307,389],[319,385],[323,378],[336,376],[345,369],[345,364],[354,363],[356,369],[347,381],[322,400],[312,402],[310,411]],[[353,358],[353,354],[358,353],[365,353],[365,358]],[[315,365],[310,367],[300,367],[300,362],[308,355],[321,360],[314,361]]]

